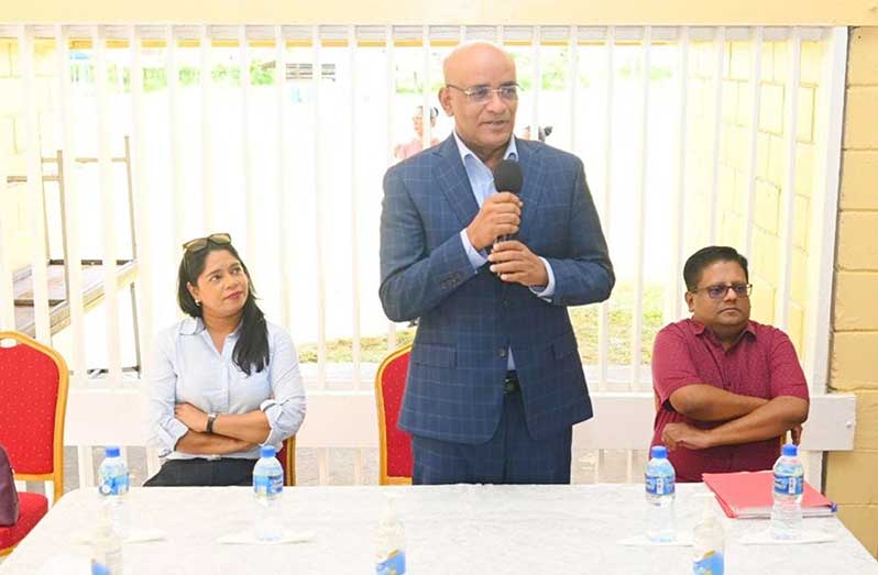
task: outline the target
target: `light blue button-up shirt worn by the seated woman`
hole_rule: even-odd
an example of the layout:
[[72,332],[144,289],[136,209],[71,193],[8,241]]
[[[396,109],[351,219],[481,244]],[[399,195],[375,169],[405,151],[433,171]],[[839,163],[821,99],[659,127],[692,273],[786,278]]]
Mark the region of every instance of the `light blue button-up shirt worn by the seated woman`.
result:
[[[281,449],[305,419],[305,387],[296,347],[289,334],[271,322],[268,366],[244,374],[232,361],[238,331],[229,334],[217,351],[201,319],[188,318],[156,336],[147,365],[149,442],[161,456],[171,460],[211,458],[176,451],[188,428],[174,417],[176,403],[189,402],[205,412],[248,413],[262,410],[271,432],[264,443]],[[223,457],[259,458],[259,446]]]

